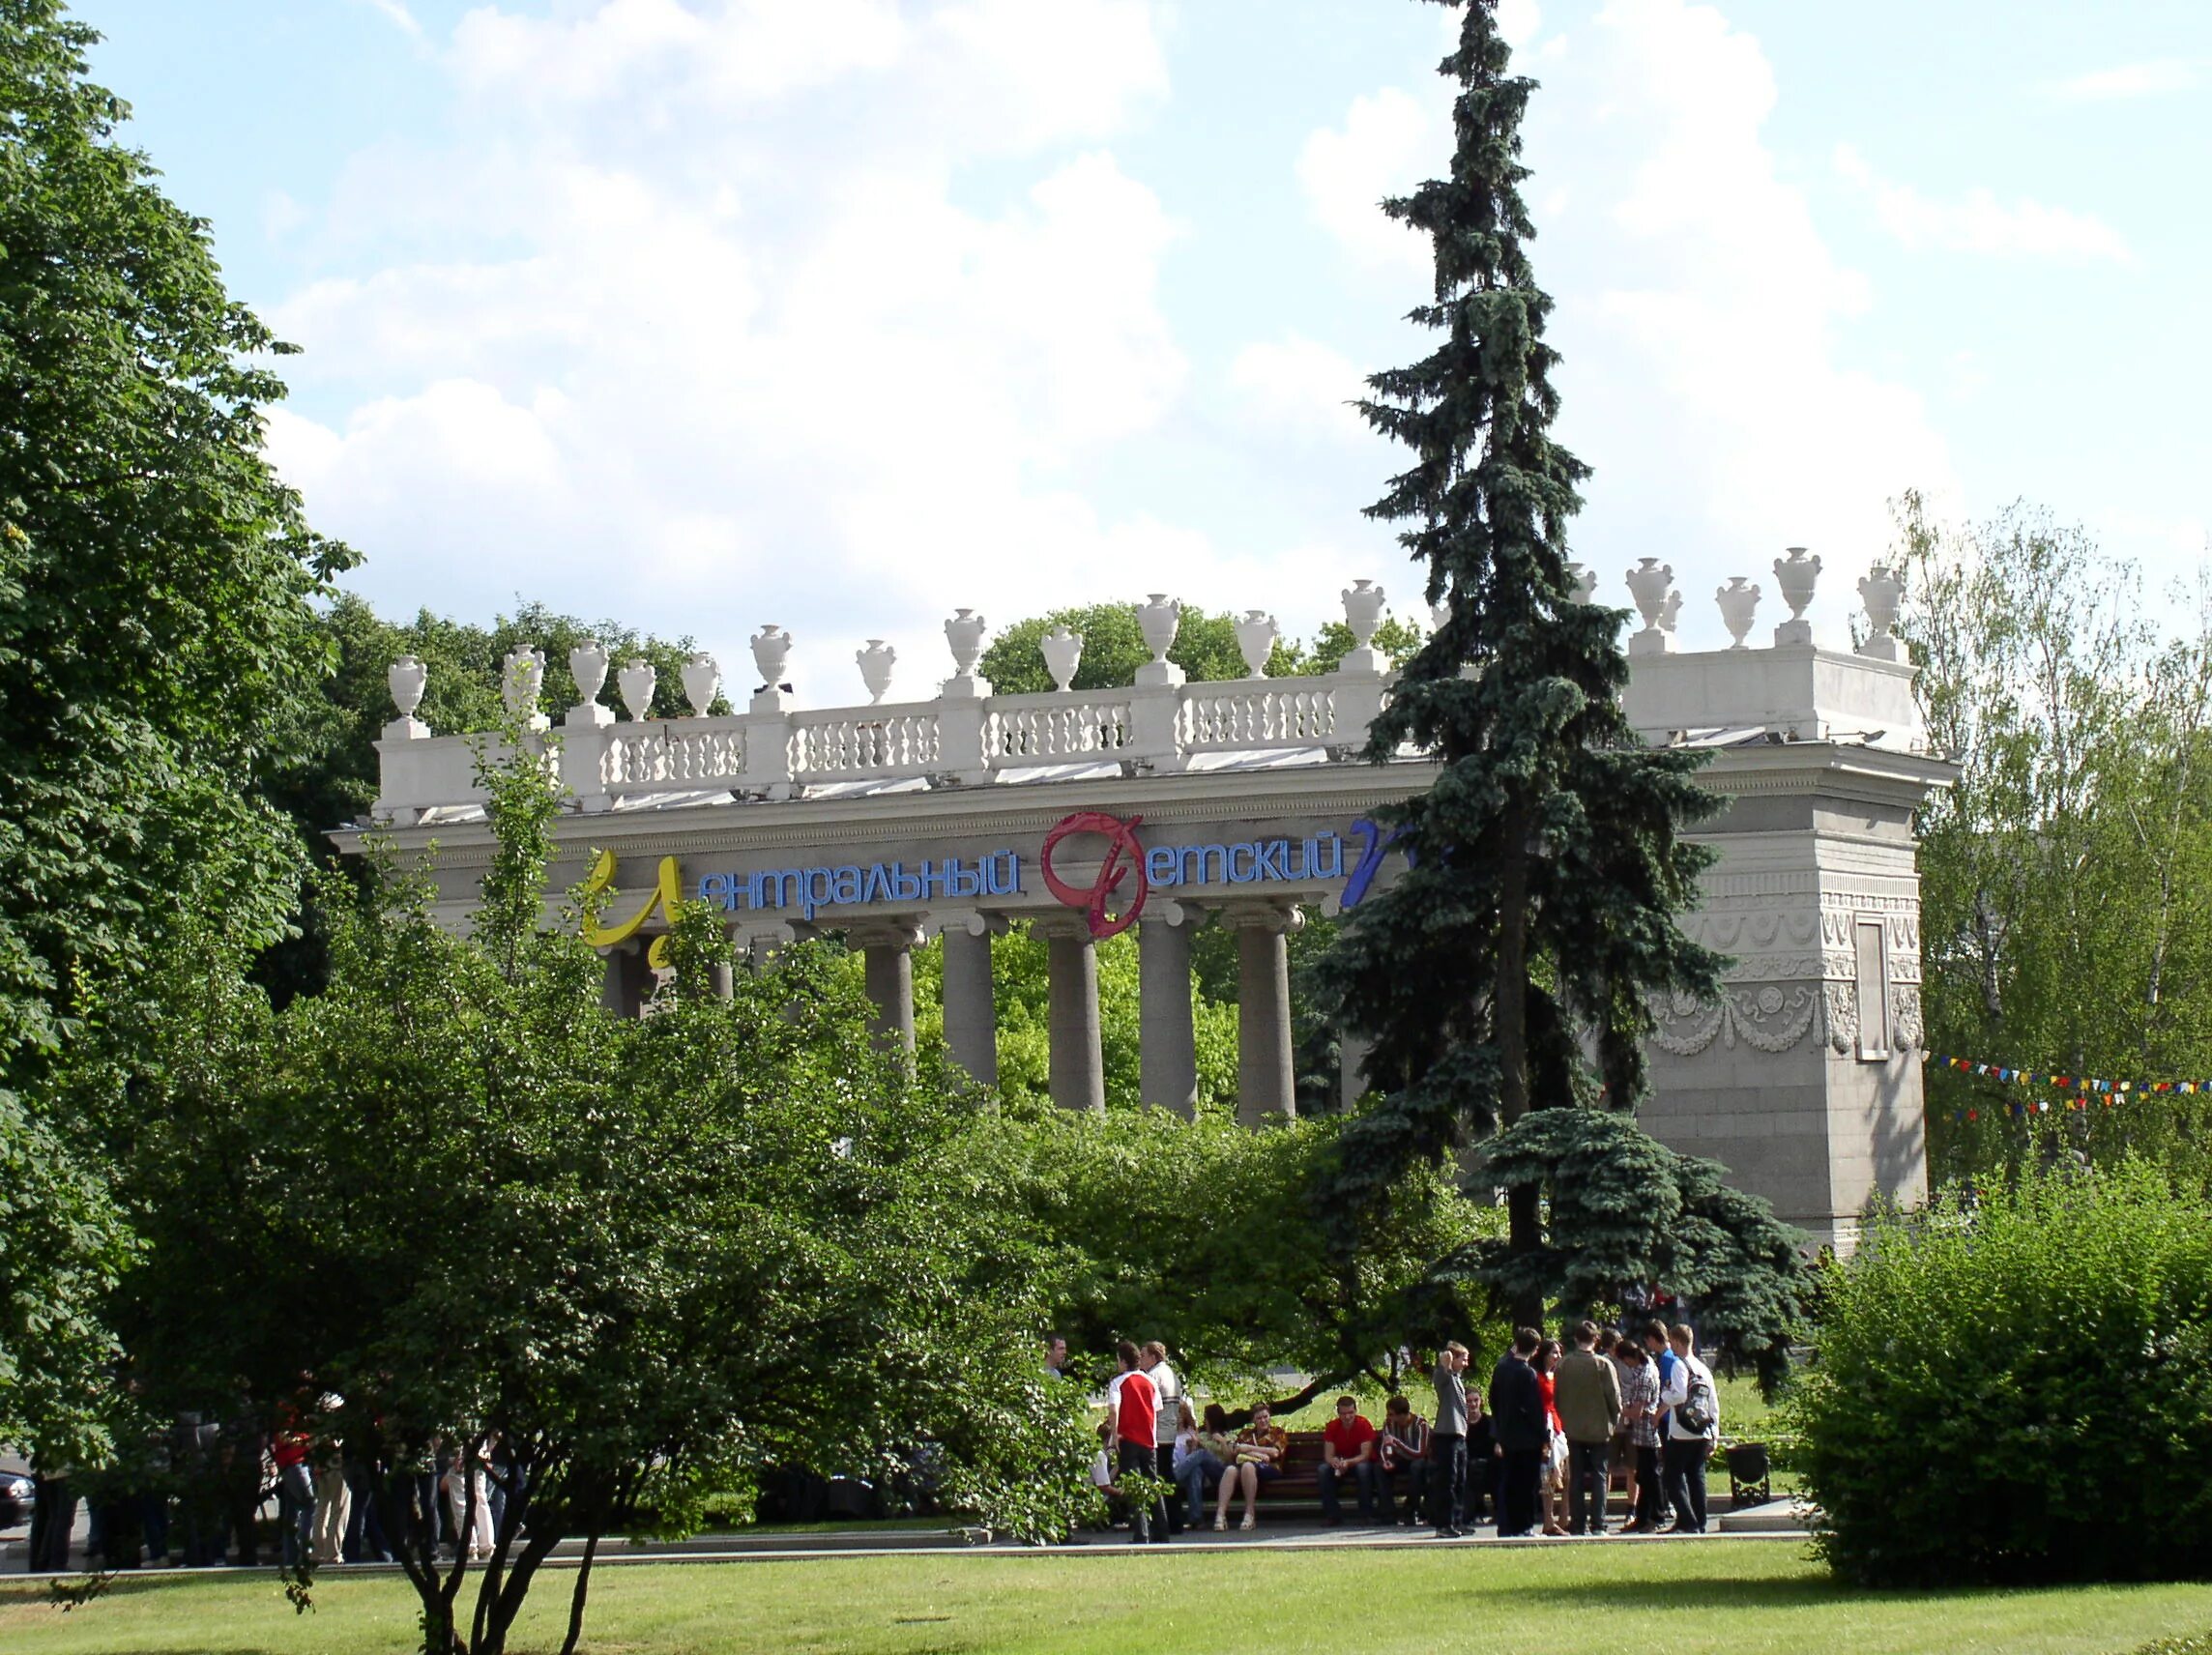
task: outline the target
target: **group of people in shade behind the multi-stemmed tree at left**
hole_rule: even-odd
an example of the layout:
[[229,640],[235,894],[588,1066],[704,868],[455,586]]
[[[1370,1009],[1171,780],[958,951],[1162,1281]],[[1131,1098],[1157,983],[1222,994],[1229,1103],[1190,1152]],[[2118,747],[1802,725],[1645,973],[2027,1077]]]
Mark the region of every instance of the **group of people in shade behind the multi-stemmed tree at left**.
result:
[[489,1558],[509,1502],[520,1524],[522,1478],[498,1440],[462,1451],[429,1438],[418,1454],[385,1465],[349,1449],[341,1409],[338,1396],[310,1389],[274,1418],[246,1409],[232,1418],[179,1414],[168,1432],[97,1478],[40,1467],[27,1566],[71,1566],[80,1505],[84,1562],[106,1569],[250,1569],[261,1562],[270,1502],[276,1560],[292,1569],[392,1562],[392,1516],[409,1527],[418,1555],[427,1544],[445,1558]]

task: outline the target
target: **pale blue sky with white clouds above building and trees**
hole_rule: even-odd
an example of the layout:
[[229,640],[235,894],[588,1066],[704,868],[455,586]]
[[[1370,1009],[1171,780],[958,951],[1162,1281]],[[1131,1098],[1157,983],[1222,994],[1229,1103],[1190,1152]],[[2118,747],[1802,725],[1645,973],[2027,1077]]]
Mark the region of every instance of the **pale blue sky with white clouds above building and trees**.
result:
[[[1420,571],[1347,407],[1427,350],[1378,201],[1449,164],[1416,0],[75,0],[234,296],[303,347],[270,454],[387,615],[522,600],[799,699],[1166,591],[1307,635]],[[1628,606],[1823,560],[1889,502],[2212,555],[2212,7],[1502,0],[1524,195]]]

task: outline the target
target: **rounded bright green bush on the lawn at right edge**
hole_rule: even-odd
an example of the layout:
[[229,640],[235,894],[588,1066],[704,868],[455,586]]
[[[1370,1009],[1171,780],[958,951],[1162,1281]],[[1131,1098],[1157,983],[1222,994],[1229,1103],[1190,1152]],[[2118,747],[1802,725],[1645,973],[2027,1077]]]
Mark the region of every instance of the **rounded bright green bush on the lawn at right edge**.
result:
[[1790,1412],[1847,1580],[2203,1580],[2212,1206],[2124,1164],[1878,1217]]

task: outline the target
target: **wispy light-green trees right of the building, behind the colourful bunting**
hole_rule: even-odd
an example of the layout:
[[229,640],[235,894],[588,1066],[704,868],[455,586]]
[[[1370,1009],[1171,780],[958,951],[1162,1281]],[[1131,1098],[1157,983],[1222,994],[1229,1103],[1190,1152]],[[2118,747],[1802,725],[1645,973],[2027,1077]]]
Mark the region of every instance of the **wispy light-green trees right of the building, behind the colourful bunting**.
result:
[[[1907,496],[1898,535],[1916,693],[1960,763],[1920,821],[1931,1047],[2115,1080],[2212,1075],[2212,613],[2152,611],[2130,564],[2024,507],[1958,529]],[[2004,1111],[2020,1097],[1931,1069],[1938,1173],[2146,1155],[2212,1190],[2212,1095],[2033,1126]],[[1955,1120],[1969,1108],[1975,1122]]]

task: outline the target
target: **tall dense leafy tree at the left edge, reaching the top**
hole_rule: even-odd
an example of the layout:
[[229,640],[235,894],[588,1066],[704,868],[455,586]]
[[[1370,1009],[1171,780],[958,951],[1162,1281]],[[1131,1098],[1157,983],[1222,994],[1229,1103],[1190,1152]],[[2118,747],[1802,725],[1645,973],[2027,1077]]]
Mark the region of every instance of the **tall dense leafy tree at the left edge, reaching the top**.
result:
[[[349,553],[261,458],[285,347],[122,142],[58,0],[0,2],[0,1436],[91,1454],[91,1314],[122,1246],[46,1071],[195,916],[272,940],[296,854],[254,779],[325,670]],[[66,1230],[53,1226],[69,1219]]]

